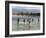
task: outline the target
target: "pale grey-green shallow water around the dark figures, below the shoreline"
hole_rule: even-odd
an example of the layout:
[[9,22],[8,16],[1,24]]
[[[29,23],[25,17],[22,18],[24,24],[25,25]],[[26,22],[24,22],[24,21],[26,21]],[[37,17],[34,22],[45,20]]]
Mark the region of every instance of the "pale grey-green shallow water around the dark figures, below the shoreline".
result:
[[[17,19],[19,18],[19,22]],[[25,22],[23,22],[25,19]],[[27,21],[29,19],[29,21]],[[33,21],[32,21],[33,19]],[[38,21],[39,19],[39,21]],[[25,31],[25,30],[40,30],[40,16],[12,16],[12,30]]]

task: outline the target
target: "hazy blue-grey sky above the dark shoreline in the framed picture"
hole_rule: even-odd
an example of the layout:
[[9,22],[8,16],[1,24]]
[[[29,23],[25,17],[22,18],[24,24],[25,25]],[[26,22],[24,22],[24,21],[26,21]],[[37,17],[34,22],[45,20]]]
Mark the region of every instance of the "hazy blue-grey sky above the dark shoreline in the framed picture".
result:
[[20,7],[20,6],[13,6],[13,12],[28,12],[28,13],[40,13],[40,7]]

